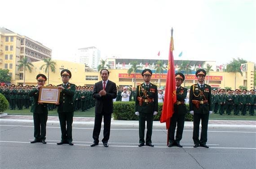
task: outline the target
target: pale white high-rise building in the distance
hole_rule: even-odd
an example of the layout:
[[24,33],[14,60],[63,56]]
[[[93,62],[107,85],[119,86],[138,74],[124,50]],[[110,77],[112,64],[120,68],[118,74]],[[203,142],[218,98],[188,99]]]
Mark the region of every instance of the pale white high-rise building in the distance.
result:
[[101,51],[96,47],[85,47],[78,49],[76,52],[76,61],[79,63],[85,63],[88,67],[97,70],[100,64]]

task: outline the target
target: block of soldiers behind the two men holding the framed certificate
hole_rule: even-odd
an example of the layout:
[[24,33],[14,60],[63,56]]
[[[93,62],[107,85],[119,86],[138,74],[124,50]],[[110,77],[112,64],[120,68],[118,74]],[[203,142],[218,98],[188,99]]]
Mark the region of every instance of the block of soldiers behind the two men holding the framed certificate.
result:
[[[56,87],[52,84],[47,86]],[[28,109],[31,106],[33,97],[30,97],[28,94],[34,88],[34,85],[23,86],[22,84],[11,84],[8,86],[7,84],[4,84],[3,86],[0,86],[0,93],[2,93],[9,102],[10,110],[23,110],[23,108]],[[95,100],[93,99],[93,87],[76,86],[74,101],[76,111],[86,111],[94,107]],[[55,104],[48,104],[49,111],[54,109],[56,109]]]

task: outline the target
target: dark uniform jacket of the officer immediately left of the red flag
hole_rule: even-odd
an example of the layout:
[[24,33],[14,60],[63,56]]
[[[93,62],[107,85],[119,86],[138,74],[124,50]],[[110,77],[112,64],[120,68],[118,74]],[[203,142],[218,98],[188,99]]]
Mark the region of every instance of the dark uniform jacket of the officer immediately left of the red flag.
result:
[[[153,99],[153,102],[142,102],[140,106],[137,97],[142,97],[143,99]],[[154,111],[158,112],[158,91],[157,86],[154,84],[149,84],[148,89],[146,89],[145,83],[142,83],[137,86],[136,99],[135,99],[135,112],[143,112],[143,113],[154,113]]]

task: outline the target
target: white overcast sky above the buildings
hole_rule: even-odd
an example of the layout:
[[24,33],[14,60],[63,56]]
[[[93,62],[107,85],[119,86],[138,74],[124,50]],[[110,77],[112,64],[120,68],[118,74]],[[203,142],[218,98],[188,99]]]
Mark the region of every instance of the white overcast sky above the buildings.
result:
[[[255,0],[2,0],[0,27],[73,60],[76,49],[96,46],[102,58],[256,63]],[[160,51],[160,57],[157,56]],[[183,52],[181,57],[178,55]]]

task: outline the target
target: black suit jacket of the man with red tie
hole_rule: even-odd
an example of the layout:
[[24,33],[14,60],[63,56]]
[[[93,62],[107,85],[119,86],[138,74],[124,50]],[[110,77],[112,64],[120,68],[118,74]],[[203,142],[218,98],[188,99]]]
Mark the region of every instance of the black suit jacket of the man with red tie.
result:
[[[99,92],[103,89],[102,80],[95,83],[93,87],[93,98],[96,99],[95,113],[102,114],[103,111],[106,114],[113,113],[113,99],[116,98],[116,84],[108,80],[106,84],[106,95],[100,96]],[[104,110],[103,110],[104,109]]]

